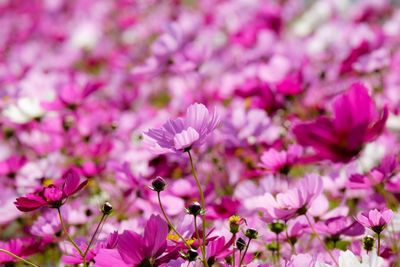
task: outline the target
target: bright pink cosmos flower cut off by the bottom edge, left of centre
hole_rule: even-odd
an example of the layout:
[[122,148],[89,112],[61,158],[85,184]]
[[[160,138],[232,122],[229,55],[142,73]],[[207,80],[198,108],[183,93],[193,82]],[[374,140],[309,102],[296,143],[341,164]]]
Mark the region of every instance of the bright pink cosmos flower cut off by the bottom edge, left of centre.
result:
[[100,250],[95,257],[95,266],[160,266],[178,257],[177,249],[168,251],[167,235],[168,224],[160,216],[152,215],[143,236],[125,230],[118,237],[117,252]]

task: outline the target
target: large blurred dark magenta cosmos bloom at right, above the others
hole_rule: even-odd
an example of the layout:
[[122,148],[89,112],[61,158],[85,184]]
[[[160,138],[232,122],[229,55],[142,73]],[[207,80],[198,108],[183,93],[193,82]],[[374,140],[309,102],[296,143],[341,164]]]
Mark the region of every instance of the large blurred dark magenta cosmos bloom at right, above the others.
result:
[[314,160],[350,161],[382,133],[388,117],[386,108],[378,113],[362,84],[353,84],[332,108],[333,118],[322,116],[293,128],[299,144],[314,148]]

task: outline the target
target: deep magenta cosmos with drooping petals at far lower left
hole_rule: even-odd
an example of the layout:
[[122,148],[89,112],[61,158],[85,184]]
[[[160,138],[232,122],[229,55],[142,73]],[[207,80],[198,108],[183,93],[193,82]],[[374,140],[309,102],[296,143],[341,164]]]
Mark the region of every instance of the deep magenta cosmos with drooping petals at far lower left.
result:
[[88,180],[80,183],[80,177],[74,169],[68,170],[55,184],[43,187],[39,192],[19,197],[15,206],[24,212],[33,211],[41,207],[59,208],[66,199],[81,190]]

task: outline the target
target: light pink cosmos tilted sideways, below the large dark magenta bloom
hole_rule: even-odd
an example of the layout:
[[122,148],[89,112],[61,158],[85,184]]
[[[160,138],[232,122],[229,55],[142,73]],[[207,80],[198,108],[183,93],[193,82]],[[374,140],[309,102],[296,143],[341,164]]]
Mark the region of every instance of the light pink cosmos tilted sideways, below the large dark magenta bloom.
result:
[[322,192],[322,179],[317,175],[308,175],[299,184],[274,198],[270,193],[265,195],[268,202],[264,209],[266,221],[289,220],[296,215],[307,212],[312,201]]

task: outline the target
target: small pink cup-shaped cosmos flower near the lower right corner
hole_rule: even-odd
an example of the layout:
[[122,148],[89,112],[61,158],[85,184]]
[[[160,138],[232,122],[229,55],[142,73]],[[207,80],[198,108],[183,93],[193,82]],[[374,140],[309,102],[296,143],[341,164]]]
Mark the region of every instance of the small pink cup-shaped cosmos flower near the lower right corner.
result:
[[377,209],[368,212],[362,212],[357,216],[357,220],[364,227],[372,229],[375,233],[379,234],[390,223],[393,218],[393,211],[384,209],[379,211]]

